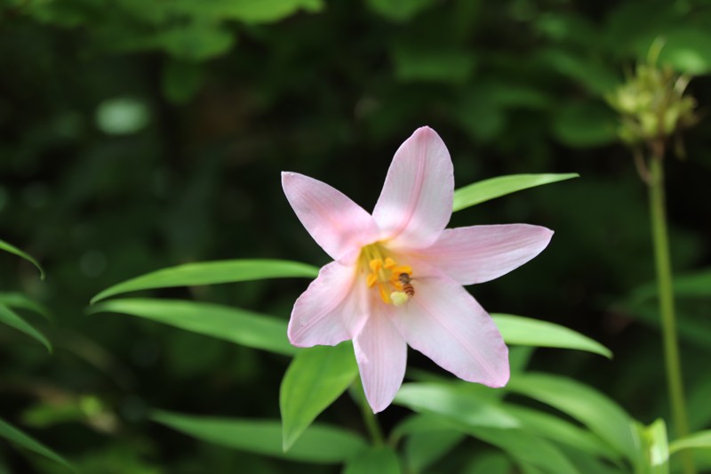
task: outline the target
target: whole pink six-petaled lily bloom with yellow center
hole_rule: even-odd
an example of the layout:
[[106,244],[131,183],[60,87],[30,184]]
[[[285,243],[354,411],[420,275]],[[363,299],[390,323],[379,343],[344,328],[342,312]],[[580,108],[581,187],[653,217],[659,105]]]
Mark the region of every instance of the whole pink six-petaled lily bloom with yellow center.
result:
[[282,173],[301,223],[333,261],[294,303],[294,346],[353,340],[374,413],[403,383],[407,346],[468,382],[503,387],[508,349],[462,285],[538,255],[553,231],[526,224],[445,229],[454,173],[442,139],[421,127],[395,152],[372,215],[322,181]]

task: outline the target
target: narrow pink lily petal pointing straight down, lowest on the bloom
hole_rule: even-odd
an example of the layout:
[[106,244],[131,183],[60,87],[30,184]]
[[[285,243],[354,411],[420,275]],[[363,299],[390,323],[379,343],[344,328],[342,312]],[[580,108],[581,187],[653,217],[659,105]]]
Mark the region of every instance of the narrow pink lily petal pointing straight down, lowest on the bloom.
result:
[[[377,304],[377,303],[376,303]],[[353,340],[365,398],[373,413],[382,412],[403,384],[407,344],[390,320],[390,308],[379,304]]]

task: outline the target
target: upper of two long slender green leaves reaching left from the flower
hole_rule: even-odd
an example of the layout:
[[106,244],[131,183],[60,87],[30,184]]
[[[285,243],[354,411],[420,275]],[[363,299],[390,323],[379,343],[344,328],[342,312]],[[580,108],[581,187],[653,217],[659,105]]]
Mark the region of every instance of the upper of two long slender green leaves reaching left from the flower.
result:
[[297,261],[228,260],[186,263],[177,267],[160,269],[110,286],[94,296],[92,304],[116,294],[153,288],[215,285],[266,278],[315,278],[317,276],[318,269],[316,267]]

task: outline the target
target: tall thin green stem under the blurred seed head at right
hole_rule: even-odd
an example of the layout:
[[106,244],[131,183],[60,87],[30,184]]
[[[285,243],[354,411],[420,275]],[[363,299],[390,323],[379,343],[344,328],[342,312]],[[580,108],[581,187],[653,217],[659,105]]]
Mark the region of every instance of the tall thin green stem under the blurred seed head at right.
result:
[[[682,438],[689,434],[689,424],[686,418],[686,405],[683,395],[682,364],[679,357],[679,345],[676,341],[674,288],[672,286],[667,215],[664,203],[664,169],[660,156],[651,157],[650,178],[651,235],[654,245],[654,260],[657,267],[659,313],[661,315],[664,342],[664,359],[667,366],[667,385],[676,437]],[[696,470],[691,453],[688,450],[683,451],[681,457],[683,471],[686,474],[694,474]]]

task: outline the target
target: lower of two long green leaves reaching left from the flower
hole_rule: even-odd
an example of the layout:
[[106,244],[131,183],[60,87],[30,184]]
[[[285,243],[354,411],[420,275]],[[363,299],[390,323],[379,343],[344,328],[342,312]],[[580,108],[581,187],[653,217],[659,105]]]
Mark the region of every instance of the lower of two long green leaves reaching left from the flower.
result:
[[276,354],[290,356],[297,351],[286,337],[284,320],[246,309],[197,301],[140,298],[105,301],[88,309],[90,314],[106,311],[145,317],[193,333]]

